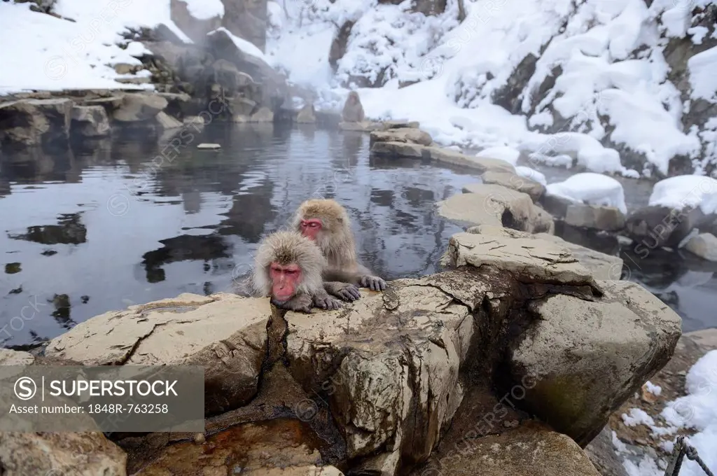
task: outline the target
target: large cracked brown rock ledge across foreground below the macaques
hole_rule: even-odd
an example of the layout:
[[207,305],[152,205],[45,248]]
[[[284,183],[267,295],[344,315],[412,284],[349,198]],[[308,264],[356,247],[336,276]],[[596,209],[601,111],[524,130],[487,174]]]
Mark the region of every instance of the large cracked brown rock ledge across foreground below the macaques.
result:
[[[97,440],[93,463],[67,475],[597,476],[581,448],[670,360],[681,326],[640,285],[609,279],[616,260],[485,225],[452,237],[443,272],[341,310],[183,294],[0,361],[206,368],[205,434],[76,434]],[[11,474],[69,470],[52,435],[1,438]]]

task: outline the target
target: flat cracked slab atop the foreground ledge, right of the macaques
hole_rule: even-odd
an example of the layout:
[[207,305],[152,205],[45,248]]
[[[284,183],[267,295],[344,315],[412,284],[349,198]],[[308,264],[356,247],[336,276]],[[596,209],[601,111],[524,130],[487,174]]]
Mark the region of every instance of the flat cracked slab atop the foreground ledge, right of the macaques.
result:
[[441,265],[493,266],[514,273],[520,282],[561,282],[599,289],[592,272],[567,248],[539,239],[457,233],[450,238]]

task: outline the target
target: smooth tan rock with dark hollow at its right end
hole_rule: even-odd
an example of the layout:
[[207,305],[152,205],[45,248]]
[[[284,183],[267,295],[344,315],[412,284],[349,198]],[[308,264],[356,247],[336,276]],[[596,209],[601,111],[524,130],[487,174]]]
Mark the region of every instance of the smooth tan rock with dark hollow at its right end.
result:
[[439,214],[469,225],[493,225],[531,233],[553,233],[552,217],[528,194],[500,185],[472,184],[465,193],[438,202]]

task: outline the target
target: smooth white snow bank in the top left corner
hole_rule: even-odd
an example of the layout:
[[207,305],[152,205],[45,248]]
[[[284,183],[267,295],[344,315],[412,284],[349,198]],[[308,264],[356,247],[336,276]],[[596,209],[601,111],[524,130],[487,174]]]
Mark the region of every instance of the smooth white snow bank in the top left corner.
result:
[[75,22],[30,11],[29,4],[0,2],[0,94],[151,87],[115,81],[120,75],[112,65],[141,65],[135,56],[146,51],[132,42],[121,48],[128,42],[120,34],[163,23],[186,38],[170,20],[168,1],[59,0],[54,11]]

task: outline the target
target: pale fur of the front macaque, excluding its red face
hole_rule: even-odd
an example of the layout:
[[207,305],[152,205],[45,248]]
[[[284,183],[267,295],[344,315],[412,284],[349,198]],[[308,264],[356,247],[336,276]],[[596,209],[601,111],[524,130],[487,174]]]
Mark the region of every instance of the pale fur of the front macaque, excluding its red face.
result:
[[[283,303],[277,302],[272,296],[269,274],[272,262],[284,266],[295,264],[302,272],[295,294]],[[321,250],[310,239],[298,232],[275,232],[267,236],[257,250],[252,287],[257,295],[272,296],[272,304],[277,308],[304,313],[310,313],[312,305],[322,309],[338,309],[341,303],[331,298],[323,287],[322,272],[327,265]]]

